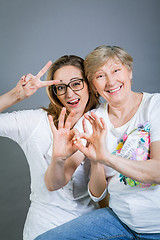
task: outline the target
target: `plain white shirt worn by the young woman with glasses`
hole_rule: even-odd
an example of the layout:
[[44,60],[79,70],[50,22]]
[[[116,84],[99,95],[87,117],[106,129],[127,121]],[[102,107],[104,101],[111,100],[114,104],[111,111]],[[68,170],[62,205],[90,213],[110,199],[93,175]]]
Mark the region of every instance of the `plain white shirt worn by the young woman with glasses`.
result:
[[20,145],[30,168],[31,205],[25,222],[24,240],[33,240],[97,208],[87,191],[90,172],[87,159],[79,165],[65,187],[53,192],[47,190],[44,174],[51,161],[53,135],[45,111],[1,113],[0,136],[8,137]]

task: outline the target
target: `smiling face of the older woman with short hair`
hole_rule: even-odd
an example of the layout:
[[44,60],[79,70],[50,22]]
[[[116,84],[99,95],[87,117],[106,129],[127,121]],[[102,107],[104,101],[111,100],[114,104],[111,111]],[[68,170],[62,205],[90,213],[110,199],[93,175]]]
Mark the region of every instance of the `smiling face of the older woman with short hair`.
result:
[[118,59],[109,59],[94,74],[93,84],[98,93],[109,103],[125,101],[131,91],[132,71]]

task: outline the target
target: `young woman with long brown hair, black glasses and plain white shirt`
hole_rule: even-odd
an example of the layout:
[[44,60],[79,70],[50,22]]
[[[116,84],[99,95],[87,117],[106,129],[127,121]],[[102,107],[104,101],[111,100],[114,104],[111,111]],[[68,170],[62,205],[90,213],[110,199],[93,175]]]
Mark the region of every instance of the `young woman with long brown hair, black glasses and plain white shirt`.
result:
[[[43,82],[40,78],[48,69],[47,81]],[[66,121],[72,128],[84,112],[98,104],[98,98],[89,89],[85,78],[83,59],[73,55],[63,56],[53,64],[48,62],[36,76],[22,76],[14,89],[0,96],[0,111],[30,97],[41,87],[47,87],[48,108],[0,114],[0,135],[20,145],[30,168],[31,205],[25,222],[24,240],[33,240],[41,233],[97,208],[87,191],[89,160],[82,164],[67,162],[67,171],[72,168],[77,170],[68,184],[58,191],[48,191],[44,181],[54,145],[48,115],[53,117],[58,128],[59,118],[65,116],[65,107],[66,115],[72,111]],[[58,146],[59,149],[62,147]],[[63,171],[60,167],[59,174],[63,175]]]

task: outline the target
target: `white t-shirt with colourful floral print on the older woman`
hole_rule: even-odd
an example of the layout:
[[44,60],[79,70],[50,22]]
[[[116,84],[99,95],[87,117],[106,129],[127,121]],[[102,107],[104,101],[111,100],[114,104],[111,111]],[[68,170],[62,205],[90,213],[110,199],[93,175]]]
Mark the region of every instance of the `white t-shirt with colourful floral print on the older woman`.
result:
[[[111,153],[132,160],[149,158],[149,143],[160,141],[160,94],[143,93],[142,102],[132,119],[114,128],[108,117],[107,103],[94,110],[107,123],[106,142]],[[89,124],[88,124],[89,126]],[[76,125],[82,129],[81,121]],[[89,126],[91,130],[91,126]],[[107,176],[108,168],[106,168]],[[160,186],[136,182],[113,170],[108,183],[109,206],[132,230],[160,232]],[[94,199],[94,198],[93,198]]]

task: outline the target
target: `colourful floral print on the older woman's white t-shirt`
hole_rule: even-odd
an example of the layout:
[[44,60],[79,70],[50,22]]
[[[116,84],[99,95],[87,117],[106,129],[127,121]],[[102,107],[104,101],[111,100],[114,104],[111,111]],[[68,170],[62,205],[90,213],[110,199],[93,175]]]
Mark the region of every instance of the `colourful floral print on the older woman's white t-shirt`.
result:
[[[117,156],[131,159],[133,161],[145,161],[150,158],[150,124],[138,124],[137,128],[133,129],[130,133],[125,133],[118,141],[116,150],[112,153]],[[145,184],[137,182],[133,179],[119,174],[120,182],[125,185],[150,187],[155,184]]]

